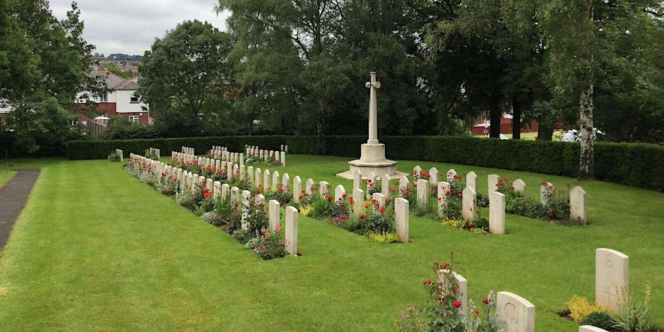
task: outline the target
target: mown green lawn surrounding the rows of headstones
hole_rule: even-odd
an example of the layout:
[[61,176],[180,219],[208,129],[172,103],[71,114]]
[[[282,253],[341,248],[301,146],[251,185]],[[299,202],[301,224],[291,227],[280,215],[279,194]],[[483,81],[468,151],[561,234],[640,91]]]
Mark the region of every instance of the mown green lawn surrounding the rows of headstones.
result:
[[[348,159],[288,155],[280,174],[333,186]],[[38,164],[39,162],[37,162]],[[577,184],[550,175],[401,161],[410,173],[436,166],[528,184]],[[664,326],[664,194],[583,182],[587,227],[507,215],[506,235],[478,235],[410,220],[409,244],[381,245],[300,216],[300,257],[261,261],[229,235],[106,160],[47,160],[0,258],[3,330],[385,331],[409,304],[422,304],[430,264],[450,251],[465,270],[469,299],[510,291],[537,307],[536,331],[575,331],[556,312],[571,295],[594,299],[595,248],[629,256],[630,289],[653,289]]]

